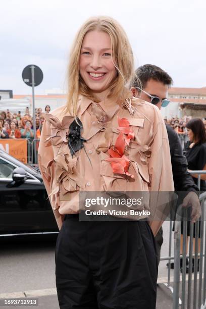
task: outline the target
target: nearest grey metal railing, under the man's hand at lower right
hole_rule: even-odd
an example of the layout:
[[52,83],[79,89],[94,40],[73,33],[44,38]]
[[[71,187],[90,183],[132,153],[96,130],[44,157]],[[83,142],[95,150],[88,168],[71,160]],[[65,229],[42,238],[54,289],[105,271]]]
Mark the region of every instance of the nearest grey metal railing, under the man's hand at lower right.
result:
[[[175,254],[174,254],[174,300],[173,300],[173,309],[178,308],[178,305],[181,304],[181,308],[187,309],[200,309],[205,307],[205,284],[206,284],[206,267],[204,265],[204,274],[203,274],[203,257],[205,256],[206,246],[204,247],[203,254],[203,242],[205,242],[205,235],[203,234],[204,230],[204,218],[205,218],[205,207],[204,202],[206,200],[206,192],[200,194],[201,202],[201,221],[198,220],[195,223],[195,250],[193,253],[193,226],[194,224],[190,221],[183,221],[183,254],[182,254],[182,285],[181,285],[181,301],[179,301],[179,290],[180,290],[180,234],[181,234],[181,221],[175,222]],[[181,205],[178,208],[178,211],[181,211]],[[184,217],[187,216],[187,210],[183,209]],[[180,219],[180,218],[179,218]],[[180,219],[181,220],[181,219]],[[199,224],[201,222],[200,235],[199,235]],[[190,225],[190,240],[189,240],[189,254],[186,254],[186,237],[187,237],[187,225]],[[200,238],[199,238],[200,236]],[[200,252],[198,253],[198,239],[200,239]],[[189,268],[188,268],[188,286],[187,286],[187,299],[186,299],[186,258],[189,258]],[[194,259],[194,275],[192,278],[192,259]],[[199,260],[199,262],[198,262]],[[204,259],[205,264],[206,259]],[[198,265],[199,264],[199,265]],[[197,270],[199,268],[199,278],[197,278]],[[203,275],[203,290],[202,290],[202,275]],[[192,279],[193,279],[193,290],[192,290]],[[197,280],[198,279],[198,280]],[[198,291],[197,291],[198,286]],[[193,291],[193,295],[192,295]],[[197,295],[198,294],[198,295]],[[193,298],[193,301],[192,301]],[[192,304],[193,302],[193,304]]]

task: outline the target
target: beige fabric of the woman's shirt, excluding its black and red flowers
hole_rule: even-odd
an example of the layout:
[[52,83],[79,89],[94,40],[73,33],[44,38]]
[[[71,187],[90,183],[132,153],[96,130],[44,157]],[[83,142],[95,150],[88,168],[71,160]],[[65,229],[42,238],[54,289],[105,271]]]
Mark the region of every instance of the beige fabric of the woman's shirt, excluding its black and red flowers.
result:
[[[124,104],[114,100],[97,104],[81,96],[77,116],[83,124],[86,152],[82,148],[73,158],[66,135],[74,117],[64,110],[62,106],[45,114],[38,150],[40,172],[59,229],[65,214],[79,212],[80,190],[174,190],[167,131],[156,106],[138,98],[129,98]],[[134,131],[125,150],[130,160],[128,172],[134,178],[114,174],[110,162],[105,161],[119,134],[118,117],[127,118]],[[161,224],[153,223],[153,230],[157,232]]]

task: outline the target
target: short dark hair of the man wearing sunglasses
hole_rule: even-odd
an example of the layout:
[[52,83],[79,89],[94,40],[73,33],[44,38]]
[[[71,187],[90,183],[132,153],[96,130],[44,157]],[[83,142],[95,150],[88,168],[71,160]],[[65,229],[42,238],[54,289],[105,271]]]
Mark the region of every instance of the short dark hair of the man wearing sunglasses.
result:
[[[160,81],[164,85],[168,86],[173,84],[172,77],[170,77],[167,72],[155,65],[143,65],[135,71],[135,74],[137,78],[134,78],[130,85],[131,87],[139,87],[143,89],[146,86],[147,81],[150,79]],[[141,86],[138,79],[141,82]]]

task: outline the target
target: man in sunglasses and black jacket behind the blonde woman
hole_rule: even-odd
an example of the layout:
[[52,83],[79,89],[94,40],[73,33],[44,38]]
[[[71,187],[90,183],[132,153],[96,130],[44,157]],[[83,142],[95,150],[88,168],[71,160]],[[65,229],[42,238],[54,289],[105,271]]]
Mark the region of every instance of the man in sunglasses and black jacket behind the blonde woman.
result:
[[[136,78],[131,84],[131,91],[134,97],[142,98],[143,100],[156,105],[159,109],[165,108],[169,104],[167,93],[173,80],[168,73],[155,65],[144,65],[136,71]],[[173,170],[174,186],[176,191],[186,191],[182,205],[189,207],[192,205],[191,218],[196,221],[201,213],[200,203],[198,198],[198,187],[195,185],[192,176],[187,171],[187,160],[182,152],[180,139],[177,133],[166,124],[168,139],[170,144],[170,154]],[[187,193],[188,192],[188,193]],[[181,235],[182,236],[182,235]],[[181,238],[183,241],[183,238]],[[160,251],[163,243],[163,229],[159,230],[156,235],[158,265],[160,263]],[[182,248],[182,246],[181,246]],[[182,253],[182,252],[181,252]],[[180,260],[182,267],[182,259]],[[174,268],[174,263],[171,263],[171,268]]]

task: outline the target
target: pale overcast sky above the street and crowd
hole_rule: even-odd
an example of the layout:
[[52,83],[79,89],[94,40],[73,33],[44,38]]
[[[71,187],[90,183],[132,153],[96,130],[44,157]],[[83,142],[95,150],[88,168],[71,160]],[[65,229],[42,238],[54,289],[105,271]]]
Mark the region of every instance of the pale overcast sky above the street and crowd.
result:
[[130,39],[136,67],[156,64],[176,87],[206,86],[204,0],[1,0],[0,89],[29,94],[21,74],[35,64],[44,74],[36,94],[64,87],[69,48],[90,16],[117,19]]

